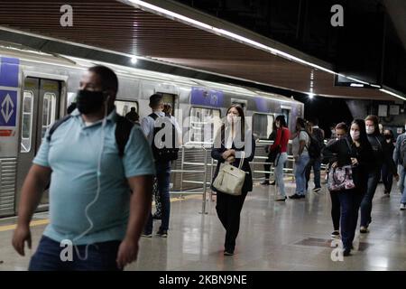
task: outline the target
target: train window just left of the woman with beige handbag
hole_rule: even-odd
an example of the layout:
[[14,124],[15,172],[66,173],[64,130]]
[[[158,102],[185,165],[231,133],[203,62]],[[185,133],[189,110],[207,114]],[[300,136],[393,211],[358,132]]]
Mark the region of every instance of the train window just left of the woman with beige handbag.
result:
[[215,117],[220,119],[219,109],[191,107],[189,142],[213,144]]

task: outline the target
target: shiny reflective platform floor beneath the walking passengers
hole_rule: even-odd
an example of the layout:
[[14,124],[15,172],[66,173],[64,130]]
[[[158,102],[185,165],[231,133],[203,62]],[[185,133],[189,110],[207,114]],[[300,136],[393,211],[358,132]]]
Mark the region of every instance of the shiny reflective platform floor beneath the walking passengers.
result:
[[[312,183],[310,184],[310,188]],[[287,184],[288,195],[293,183]],[[324,188],[306,200],[273,200],[274,187],[255,185],[245,200],[235,256],[223,256],[225,230],[217,219],[216,202],[199,214],[201,195],[171,203],[168,238],[141,238],[138,260],[126,270],[406,270],[406,211],[393,185],[383,198],[380,184],[374,197],[371,232],[357,233],[358,250],[344,261],[332,261],[330,200]],[[154,232],[159,227],[155,221]],[[26,270],[28,256],[11,246],[15,218],[0,219],[0,270]],[[47,213],[35,215],[33,249],[47,223]],[[1,262],[3,261],[3,263]]]

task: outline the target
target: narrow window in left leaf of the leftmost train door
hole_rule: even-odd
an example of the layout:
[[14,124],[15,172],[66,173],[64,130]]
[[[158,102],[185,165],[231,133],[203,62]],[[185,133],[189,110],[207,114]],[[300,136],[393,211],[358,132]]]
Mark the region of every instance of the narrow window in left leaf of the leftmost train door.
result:
[[26,90],[23,93],[23,124],[21,130],[22,153],[29,153],[31,151],[32,108],[33,108],[33,93],[32,91]]

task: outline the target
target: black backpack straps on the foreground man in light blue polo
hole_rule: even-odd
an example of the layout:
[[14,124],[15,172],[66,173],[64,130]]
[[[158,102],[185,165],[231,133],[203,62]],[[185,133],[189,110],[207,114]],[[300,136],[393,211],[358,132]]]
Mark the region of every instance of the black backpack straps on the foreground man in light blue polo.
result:
[[[55,130],[64,122],[66,122],[71,115],[67,115],[65,117],[60,118],[57,120],[50,129],[50,133],[47,135],[47,141],[51,142],[51,136],[55,132]],[[125,144],[128,142],[128,138],[130,137],[131,129],[133,128],[134,124],[125,117],[117,115],[116,118],[116,126],[115,126],[115,142],[117,143],[118,148],[118,155],[123,157],[125,152]]]

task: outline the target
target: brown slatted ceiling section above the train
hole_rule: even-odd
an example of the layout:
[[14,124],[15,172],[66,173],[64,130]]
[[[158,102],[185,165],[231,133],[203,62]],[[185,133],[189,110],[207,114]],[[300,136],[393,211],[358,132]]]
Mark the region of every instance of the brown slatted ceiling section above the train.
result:
[[[66,4],[73,7],[72,27],[60,25]],[[326,71],[114,0],[2,0],[0,26],[302,93],[312,88],[333,98],[398,99],[378,89],[335,87]]]

